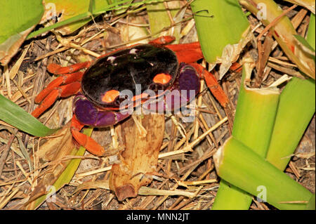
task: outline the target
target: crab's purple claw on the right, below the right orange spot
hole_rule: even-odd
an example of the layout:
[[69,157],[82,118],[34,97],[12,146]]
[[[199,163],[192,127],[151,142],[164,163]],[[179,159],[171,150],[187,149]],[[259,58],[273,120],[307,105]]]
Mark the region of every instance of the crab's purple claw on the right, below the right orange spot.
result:
[[199,87],[199,76],[195,68],[181,63],[178,77],[172,88],[158,99],[145,102],[143,109],[159,113],[175,112],[195,98],[195,95],[199,93]]

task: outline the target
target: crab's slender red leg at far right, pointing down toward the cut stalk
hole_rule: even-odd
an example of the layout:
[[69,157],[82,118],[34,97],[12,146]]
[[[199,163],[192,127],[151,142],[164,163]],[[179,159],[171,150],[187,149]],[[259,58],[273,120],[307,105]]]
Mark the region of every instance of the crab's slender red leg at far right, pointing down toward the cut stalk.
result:
[[223,91],[223,88],[220,87],[220,84],[218,84],[218,81],[213,76],[213,74],[202,67],[202,65],[199,65],[197,63],[190,63],[190,65],[192,65],[192,67],[195,67],[197,73],[201,74],[202,77],[204,77],[206,85],[209,87],[211,93],[218,100],[220,105],[222,105],[222,107],[226,107],[228,103],[228,96]]

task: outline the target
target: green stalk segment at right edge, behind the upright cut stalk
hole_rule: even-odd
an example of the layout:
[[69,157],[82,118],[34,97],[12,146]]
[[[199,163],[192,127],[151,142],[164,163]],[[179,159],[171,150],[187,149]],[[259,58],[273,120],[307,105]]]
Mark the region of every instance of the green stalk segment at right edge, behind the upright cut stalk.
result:
[[315,113],[315,80],[294,77],[282,91],[267,160],[280,170],[289,163]]

